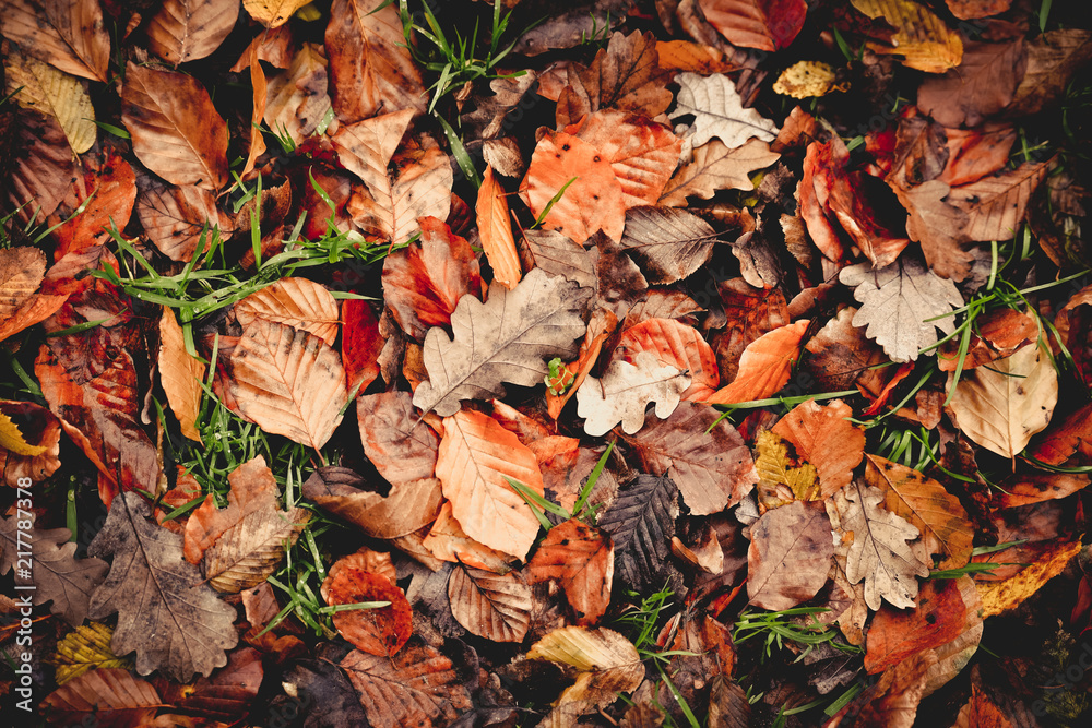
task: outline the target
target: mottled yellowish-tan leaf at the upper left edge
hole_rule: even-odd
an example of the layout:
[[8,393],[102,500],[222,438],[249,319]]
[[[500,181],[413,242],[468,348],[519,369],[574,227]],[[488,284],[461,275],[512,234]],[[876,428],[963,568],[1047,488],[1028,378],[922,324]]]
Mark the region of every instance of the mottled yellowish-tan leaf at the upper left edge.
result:
[[95,144],[98,128],[85,79],[58,71],[14,45],[9,46],[3,65],[8,93],[15,95],[15,103],[57,119],[74,154]]

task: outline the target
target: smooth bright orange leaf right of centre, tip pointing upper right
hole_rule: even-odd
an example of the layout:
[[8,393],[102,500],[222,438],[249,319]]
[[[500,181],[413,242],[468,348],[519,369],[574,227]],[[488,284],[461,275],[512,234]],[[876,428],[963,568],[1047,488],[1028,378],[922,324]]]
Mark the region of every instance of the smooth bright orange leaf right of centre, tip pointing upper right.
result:
[[739,373],[731,384],[713,393],[709,404],[726,405],[773,396],[792,373],[807,333],[807,319],[774,329],[747,345],[739,357]]

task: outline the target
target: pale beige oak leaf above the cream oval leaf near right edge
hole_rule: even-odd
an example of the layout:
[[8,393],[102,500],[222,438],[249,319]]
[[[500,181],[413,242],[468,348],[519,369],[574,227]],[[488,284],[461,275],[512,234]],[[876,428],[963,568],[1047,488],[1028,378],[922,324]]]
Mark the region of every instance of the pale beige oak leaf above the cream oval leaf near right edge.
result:
[[[937,343],[936,329],[950,334],[953,317],[945,317],[963,306],[956,284],[926,270],[913,258],[901,258],[876,271],[868,263],[842,268],[838,279],[853,286],[862,307],[853,317],[854,326],[867,326],[865,334],[883,347],[892,361],[914,361],[921,349]],[[936,317],[945,317],[928,321]]]

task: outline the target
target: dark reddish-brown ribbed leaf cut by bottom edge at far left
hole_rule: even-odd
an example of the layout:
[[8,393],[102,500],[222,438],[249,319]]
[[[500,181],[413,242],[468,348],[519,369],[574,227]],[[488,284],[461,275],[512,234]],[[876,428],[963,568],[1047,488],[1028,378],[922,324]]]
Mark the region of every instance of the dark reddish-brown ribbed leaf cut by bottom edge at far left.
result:
[[80,725],[91,719],[104,728],[151,725],[163,704],[150,682],[121,668],[99,668],[70,680],[46,695],[50,723]]

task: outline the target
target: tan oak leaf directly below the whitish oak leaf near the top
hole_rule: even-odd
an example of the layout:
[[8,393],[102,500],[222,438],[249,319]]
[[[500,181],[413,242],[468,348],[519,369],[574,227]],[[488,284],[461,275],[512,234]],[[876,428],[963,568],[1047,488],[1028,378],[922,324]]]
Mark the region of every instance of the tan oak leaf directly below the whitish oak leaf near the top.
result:
[[[709,200],[719,190],[753,190],[750,174],[765,169],[781,158],[770,151],[770,144],[760,139],[749,139],[741,145],[728,148],[713,139],[693,151],[693,159],[686,163],[667,180],[660,204],[686,207],[687,198]],[[627,228],[627,234],[629,229]]]

